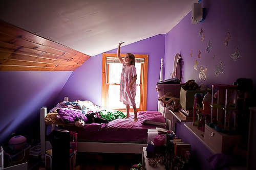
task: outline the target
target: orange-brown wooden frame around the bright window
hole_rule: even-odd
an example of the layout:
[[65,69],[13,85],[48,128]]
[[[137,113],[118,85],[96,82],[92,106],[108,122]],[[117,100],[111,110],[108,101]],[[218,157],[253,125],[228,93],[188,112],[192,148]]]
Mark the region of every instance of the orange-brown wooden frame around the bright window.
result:
[[[125,57],[126,54],[120,54],[122,58]],[[141,88],[140,88],[140,106],[137,106],[137,111],[146,111],[146,96],[147,96],[147,68],[148,68],[148,55],[144,54],[135,54],[135,58],[144,58],[144,66],[141,69]],[[102,54],[102,83],[101,83],[101,107],[106,109],[107,104],[107,96],[108,96],[108,75],[106,72],[109,70],[108,64],[106,64],[107,57],[116,57],[117,54],[111,53],[103,53]],[[138,79],[138,78],[137,78]],[[118,109],[120,111],[126,111],[120,108],[111,108],[111,109]],[[130,111],[133,111],[130,107]]]

